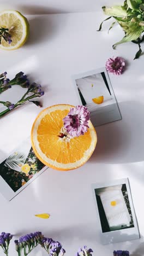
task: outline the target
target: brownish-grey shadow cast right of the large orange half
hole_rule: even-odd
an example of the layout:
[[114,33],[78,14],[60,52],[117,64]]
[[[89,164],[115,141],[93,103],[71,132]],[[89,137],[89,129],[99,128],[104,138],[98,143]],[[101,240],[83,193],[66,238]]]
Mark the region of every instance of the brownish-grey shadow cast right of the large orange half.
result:
[[122,120],[96,127],[98,143],[90,161],[119,164],[144,161],[144,105],[118,104]]

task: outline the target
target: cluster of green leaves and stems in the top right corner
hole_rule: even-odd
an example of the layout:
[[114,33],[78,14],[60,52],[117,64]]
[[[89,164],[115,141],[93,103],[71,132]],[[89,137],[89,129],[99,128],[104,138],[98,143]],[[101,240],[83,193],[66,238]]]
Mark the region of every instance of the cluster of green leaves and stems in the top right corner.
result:
[[[140,43],[144,40],[144,37],[141,38],[141,35],[144,32],[144,0],[125,0],[123,5],[102,8],[104,13],[110,16],[107,19],[113,17],[125,33],[122,40],[113,45],[113,49],[115,49],[118,44],[138,40],[139,51],[137,51],[135,55],[135,59],[138,59],[142,53]],[[116,22],[112,23],[109,30],[111,30]],[[101,30],[102,24],[103,22],[100,24],[99,31]]]

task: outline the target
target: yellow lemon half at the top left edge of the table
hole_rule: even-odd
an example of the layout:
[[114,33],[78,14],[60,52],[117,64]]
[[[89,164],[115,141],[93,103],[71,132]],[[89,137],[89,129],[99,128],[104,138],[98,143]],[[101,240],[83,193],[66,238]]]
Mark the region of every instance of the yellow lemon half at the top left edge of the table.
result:
[[2,38],[0,48],[3,50],[15,50],[26,43],[29,35],[29,24],[25,16],[19,11],[5,10],[0,13],[0,26],[8,28],[12,43],[5,42]]

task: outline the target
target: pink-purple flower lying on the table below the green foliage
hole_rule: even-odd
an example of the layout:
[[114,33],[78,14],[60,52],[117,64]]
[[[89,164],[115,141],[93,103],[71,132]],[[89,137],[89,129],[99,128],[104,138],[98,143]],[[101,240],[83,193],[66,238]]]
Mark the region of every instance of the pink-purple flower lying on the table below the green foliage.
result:
[[106,70],[112,74],[120,75],[125,68],[125,60],[121,57],[110,58],[106,61]]

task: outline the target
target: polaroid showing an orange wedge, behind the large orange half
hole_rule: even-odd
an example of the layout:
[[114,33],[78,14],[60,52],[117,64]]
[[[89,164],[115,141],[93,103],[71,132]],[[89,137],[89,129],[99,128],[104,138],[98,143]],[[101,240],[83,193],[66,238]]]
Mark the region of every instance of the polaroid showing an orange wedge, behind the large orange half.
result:
[[88,108],[94,126],[122,119],[105,67],[72,78],[79,104]]

